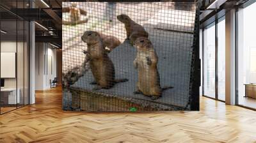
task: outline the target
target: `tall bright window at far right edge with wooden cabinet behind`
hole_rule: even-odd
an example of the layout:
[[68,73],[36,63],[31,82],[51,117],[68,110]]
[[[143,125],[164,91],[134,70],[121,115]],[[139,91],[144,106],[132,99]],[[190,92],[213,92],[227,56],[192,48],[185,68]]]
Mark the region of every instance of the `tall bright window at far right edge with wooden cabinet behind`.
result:
[[237,103],[256,109],[256,3],[237,11]]

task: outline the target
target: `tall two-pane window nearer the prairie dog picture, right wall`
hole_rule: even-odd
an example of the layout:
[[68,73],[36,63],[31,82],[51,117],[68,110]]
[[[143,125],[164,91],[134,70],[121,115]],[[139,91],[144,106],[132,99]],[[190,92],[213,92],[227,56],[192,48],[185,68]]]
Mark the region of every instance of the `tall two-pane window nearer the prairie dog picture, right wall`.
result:
[[216,22],[203,32],[203,95],[225,101],[225,16]]

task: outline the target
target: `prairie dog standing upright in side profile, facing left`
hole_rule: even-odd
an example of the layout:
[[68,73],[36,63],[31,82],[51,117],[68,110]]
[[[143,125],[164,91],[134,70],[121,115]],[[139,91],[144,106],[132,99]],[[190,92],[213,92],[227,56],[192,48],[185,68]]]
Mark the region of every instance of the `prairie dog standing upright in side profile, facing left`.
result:
[[87,43],[88,49],[87,51],[84,51],[84,54],[87,54],[86,58],[90,62],[90,68],[95,79],[95,82],[92,84],[99,85],[98,87],[93,88],[93,90],[102,88],[109,89],[117,82],[127,81],[127,79],[115,80],[114,64],[104,49],[104,43],[99,33],[95,31],[86,31],[81,38]]

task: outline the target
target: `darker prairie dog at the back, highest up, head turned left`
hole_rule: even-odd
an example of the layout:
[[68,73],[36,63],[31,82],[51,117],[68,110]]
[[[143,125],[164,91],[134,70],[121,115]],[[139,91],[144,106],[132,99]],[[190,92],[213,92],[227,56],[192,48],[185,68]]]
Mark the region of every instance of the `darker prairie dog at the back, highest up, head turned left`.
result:
[[136,40],[136,38],[141,36],[148,38],[147,31],[145,31],[145,29],[140,24],[137,24],[136,22],[131,20],[131,18],[127,15],[118,15],[117,19],[120,22],[124,23],[127,39],[129,39],[131,43],[133,43]]

